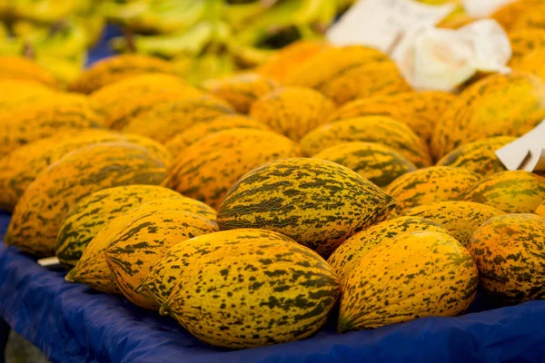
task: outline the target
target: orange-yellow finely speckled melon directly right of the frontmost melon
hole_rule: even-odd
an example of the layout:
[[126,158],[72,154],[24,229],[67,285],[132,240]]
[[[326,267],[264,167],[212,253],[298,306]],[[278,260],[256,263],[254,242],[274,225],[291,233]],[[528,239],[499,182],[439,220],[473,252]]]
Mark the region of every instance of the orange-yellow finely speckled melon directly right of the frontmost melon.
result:
[[404,233],[365,255],[344,281],[338,329],[456,316],[469,308],[478,285],[475,261],[451,235]]

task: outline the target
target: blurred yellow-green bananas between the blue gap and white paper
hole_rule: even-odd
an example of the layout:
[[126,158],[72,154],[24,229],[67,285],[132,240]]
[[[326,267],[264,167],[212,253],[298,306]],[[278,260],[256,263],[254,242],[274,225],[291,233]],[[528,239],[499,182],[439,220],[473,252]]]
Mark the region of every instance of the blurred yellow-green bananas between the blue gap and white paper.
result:
[[173,59],[195,83],[263,64],[295,40],[322,37],[356,0],[106,0],[104,16],[130,29],[117,52]]

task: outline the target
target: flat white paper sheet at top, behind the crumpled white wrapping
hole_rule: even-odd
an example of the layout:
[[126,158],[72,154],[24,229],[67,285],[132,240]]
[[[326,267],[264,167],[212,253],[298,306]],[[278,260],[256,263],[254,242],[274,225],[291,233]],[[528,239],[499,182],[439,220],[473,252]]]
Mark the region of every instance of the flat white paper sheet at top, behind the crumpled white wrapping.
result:
[[401,36],[415,25],[435,25],[454,5],[425,5],[414,0],[360,0],[332,25],[335,45],[362,44],[391,53]]

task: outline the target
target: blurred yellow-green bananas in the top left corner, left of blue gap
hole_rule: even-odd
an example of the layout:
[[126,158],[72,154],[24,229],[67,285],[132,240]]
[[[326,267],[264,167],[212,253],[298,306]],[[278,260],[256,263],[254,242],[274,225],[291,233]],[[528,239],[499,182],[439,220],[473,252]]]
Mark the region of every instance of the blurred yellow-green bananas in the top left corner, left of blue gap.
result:
[[104,27],[94,0],[0,0],[0,56],[24,55],[70,83]]

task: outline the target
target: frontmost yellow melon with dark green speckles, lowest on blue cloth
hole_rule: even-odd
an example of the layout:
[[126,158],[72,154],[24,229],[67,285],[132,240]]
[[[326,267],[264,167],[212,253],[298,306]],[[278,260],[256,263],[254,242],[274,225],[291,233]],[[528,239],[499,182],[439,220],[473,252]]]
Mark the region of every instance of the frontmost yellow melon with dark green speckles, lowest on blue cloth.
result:
[[194,260],[164,305],[205,342],[253,348],[312,336],[339,292],[317,253],[290,240],[250,237]]

